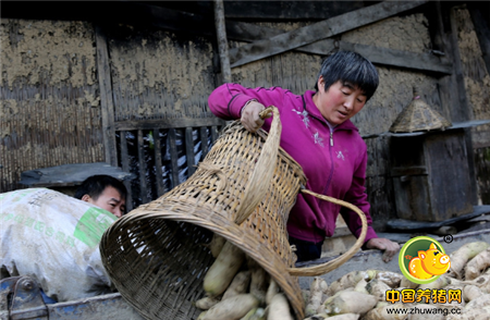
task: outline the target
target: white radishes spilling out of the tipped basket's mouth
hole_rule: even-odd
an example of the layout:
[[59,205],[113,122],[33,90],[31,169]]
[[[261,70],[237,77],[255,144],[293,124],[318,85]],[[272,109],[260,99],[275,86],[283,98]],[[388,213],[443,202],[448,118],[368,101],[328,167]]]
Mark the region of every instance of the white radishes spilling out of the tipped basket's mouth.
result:
[[287,298],[267,271],[223,237],[209,248],[215,262],[204,278],[198,320],[293,320]]

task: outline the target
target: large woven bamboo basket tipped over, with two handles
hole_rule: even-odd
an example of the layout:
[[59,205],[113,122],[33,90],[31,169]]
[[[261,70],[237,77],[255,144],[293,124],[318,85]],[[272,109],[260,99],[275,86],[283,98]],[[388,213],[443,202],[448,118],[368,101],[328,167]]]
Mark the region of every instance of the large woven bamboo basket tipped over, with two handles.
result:
[[[363,245],[367,222],[358,208],[303,189],[306,177],[279,147],[281,123],[278,110],[272,110],[269,135],[252,134],[240,122],[232,123],[186,182],[131,211],[103,234],[103,264],[121,295],[146,319],[198,317],[200,310],[193,303],[205,296],[203,279],[215,261],[206,244],[213,233],[269,272],[296,319],[304,318],[297,275],[329,272]],[[363,232],[347,253],[326,264],[294,268],[286,221],[299,192],[359,214]]]

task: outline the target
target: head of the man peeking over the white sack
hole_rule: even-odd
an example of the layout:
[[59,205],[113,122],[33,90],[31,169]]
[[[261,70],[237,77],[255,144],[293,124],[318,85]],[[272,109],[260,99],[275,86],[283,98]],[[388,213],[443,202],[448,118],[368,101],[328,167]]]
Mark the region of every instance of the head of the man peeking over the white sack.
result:
[[75,198],[96,205],[121,218],[126,209],[126,187],[110,175],[87,177],[76,189]]

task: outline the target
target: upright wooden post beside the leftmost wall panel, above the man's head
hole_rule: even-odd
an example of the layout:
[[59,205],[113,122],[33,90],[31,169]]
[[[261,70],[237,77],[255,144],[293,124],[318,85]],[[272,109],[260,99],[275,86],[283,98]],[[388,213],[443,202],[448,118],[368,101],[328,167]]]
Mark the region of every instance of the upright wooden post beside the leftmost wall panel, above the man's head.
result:
[[97,75],[99,78],[100,107],[102,113],[102,139],[106,162],[117,167],[118,153],[115,149],[114,104],[112,101],[111,70],[106,35],[97,25],[95,28],[97,46]]

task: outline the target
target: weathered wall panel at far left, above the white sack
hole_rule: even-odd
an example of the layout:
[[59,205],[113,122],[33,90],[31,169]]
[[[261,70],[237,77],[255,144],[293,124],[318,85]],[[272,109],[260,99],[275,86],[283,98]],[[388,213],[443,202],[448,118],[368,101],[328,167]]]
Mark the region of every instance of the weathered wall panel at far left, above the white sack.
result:
[[21,172],[103,161],[91,24],[1,20],[0,193]]

